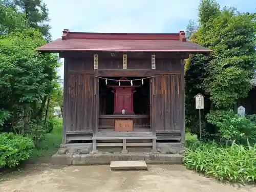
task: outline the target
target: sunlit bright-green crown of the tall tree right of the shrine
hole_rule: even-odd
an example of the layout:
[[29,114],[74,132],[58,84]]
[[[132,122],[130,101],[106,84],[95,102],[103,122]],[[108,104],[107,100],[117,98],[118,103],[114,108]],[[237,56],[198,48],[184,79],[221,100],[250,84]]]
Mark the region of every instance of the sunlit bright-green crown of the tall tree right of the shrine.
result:
[[[224,9],[208,22],[206,44],[214,50],[206,70],[206,91],[216,108],[233,109],[239,98],[247,96],[256,63],[255,21],[246,13]],[[200,33],[200,31],[199,31]]]

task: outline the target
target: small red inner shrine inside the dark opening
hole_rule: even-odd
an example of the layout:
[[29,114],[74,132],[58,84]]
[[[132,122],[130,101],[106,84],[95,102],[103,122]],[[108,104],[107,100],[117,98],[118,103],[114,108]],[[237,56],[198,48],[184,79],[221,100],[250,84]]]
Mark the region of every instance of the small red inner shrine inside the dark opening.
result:
[[[120,80],[129,81],[122,77]],[[109,86],[113,88],[114,95],[114,114],[134,114],[133,94],[135,88],[140,86]],[[124,110],[124,111],[123,111]]]

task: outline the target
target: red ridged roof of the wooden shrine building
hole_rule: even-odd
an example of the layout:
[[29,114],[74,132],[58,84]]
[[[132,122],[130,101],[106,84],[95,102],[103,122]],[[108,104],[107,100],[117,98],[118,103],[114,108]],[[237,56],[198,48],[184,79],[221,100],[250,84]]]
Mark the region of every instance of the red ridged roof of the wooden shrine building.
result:
[[186,41],[184,31],[170,34],[78,33],[63,30],[61,39],[36,49],[40,52],[122,51],[122,52],[188,52],[211,50]]

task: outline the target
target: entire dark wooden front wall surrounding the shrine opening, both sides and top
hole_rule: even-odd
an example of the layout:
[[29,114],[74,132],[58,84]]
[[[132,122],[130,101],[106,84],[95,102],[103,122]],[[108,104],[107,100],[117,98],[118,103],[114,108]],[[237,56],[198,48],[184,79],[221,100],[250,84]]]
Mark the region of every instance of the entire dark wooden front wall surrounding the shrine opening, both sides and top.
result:
[[93,69],[90,57],[64,55],[64,117],[65,132],[93,132],[98,127],[98,76],[152,76],[151,125],[156,132],[170,132],[184,128],[184,62],[181,58],[158,58],[156,70],[151,69],[151,57],[129,58],[122,69],[122,58],[98,59]]

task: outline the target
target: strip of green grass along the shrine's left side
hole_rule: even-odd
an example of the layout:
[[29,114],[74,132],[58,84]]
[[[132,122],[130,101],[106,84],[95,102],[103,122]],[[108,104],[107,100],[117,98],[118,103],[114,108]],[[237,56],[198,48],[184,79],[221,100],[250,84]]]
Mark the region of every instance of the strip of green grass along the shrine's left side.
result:
[[47,162],[51,156],[55,154],[62,140],[62,119],[56,119],[54,128],[51,133],[48,133],[45,138],[40,141],[36,148],[34,148],[32,156],[29,161]]

